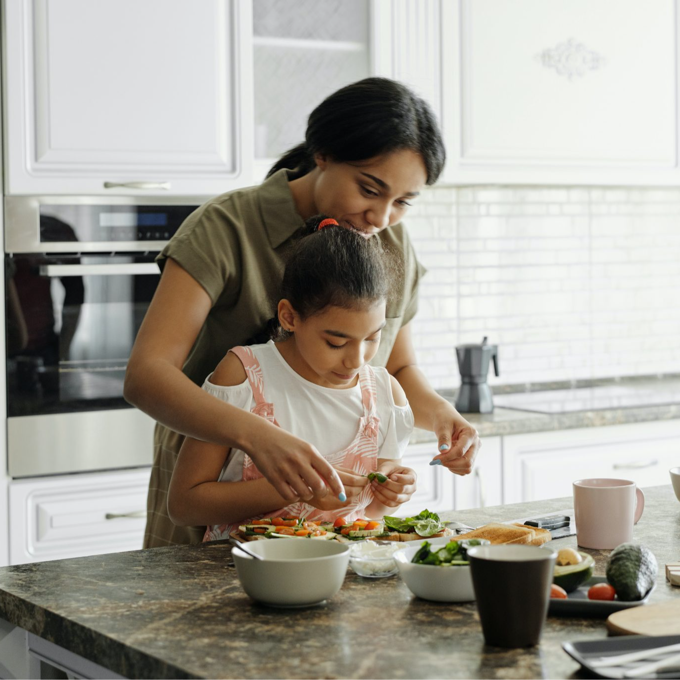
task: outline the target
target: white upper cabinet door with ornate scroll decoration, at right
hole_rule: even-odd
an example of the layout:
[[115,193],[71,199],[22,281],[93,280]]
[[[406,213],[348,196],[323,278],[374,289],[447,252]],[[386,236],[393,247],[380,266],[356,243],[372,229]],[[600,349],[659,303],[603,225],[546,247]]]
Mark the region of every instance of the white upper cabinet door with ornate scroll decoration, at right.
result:
[[674,0],[442,0],[456,184],[677,184]]

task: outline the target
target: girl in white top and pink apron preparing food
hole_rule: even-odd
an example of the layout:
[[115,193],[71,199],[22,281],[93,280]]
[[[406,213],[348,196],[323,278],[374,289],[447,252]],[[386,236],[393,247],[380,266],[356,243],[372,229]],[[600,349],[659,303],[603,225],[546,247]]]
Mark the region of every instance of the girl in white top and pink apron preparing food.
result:
[[[177,524],[207,524],[204,540],[228,537],[235,525],[265,514],[382,517],[415,490],[415,473],[401,465],[413,413],[396,379],[368,365],[386,322],[388,255],[333,219],[312,218],[306,227],[312,233],[284,271],[279,341],[234,347],[203,389],[315,445],[346,498],[315,494],[290,503],[242,450],[188,437],[168,511]],[[388,481],[369,483],[365,475],[374,471]]]

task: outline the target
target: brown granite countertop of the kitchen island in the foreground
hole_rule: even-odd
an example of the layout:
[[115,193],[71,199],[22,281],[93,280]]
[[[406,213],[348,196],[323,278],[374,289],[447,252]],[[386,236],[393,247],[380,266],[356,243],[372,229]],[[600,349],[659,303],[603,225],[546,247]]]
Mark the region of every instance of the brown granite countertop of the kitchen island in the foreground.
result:
[[[651,602],[678,597],[680,503],[645,490],[634,541],[660,565]],[[571,507],[571,498],[442,513],[468,524]],[[575,537],[555,541],[575,547]],[[588,551],[603,574],[608,551]],[[0,568],[0,617],[131,678],[585,678],[564,641],[607,636],[603,619],[549,617],[538,647],[484,645],[474,603],[419,600],[398,577],[351,571],[325,604],[270,609],[243,593],[226,543],[156,548]],[[578,671],[578,673],[577,673]]]

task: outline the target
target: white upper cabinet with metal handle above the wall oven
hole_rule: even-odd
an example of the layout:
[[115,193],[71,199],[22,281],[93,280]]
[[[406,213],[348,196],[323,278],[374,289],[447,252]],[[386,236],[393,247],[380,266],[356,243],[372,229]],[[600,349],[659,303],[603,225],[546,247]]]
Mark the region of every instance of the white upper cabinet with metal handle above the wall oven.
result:
[[4,5],[7,193],[201,195],[250,182],[250,1]]

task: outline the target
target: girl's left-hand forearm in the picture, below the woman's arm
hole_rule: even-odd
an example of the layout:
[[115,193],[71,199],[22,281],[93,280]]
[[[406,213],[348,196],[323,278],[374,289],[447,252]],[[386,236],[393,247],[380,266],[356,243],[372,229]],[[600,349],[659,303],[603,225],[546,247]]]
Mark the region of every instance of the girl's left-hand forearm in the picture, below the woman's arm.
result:
[[170,519],[180,526],[233,524],[286,507],[267,479],[205,481],[168,496]]

